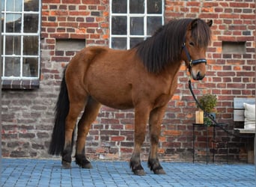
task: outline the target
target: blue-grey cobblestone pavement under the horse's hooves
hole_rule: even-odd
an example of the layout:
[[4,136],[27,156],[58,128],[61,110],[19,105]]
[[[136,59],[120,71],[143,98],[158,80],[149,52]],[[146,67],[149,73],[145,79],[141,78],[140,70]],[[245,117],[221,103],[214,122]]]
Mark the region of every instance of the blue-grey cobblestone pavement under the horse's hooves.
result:
[[91,162],[94,168],[61,168],[59,160],[1,159],[1,186],[255,186],[255,165],[162,162],[165,175],[135,176],[128,162]]

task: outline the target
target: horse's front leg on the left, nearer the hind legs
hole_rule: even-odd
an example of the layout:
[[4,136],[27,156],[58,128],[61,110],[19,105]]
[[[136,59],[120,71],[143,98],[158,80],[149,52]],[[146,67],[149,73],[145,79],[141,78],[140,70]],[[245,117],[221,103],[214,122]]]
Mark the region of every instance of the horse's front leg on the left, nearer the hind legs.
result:
[[130,168],[136,175],[145,175],[144,168],[141,166],[141,145],[144,142],[146,126],[150,110],[147,107],[135,107],[135,132],[134,132],[134,149],[130,159]]

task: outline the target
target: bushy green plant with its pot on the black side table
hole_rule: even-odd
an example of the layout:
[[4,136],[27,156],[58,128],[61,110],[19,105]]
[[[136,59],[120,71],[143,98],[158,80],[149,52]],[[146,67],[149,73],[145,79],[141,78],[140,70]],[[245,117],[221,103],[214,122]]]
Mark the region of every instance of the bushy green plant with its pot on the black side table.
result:
[[[207,94],[204,94],[203,96],[201,96],[198,99],[198,101],[202,107],[201,109],[203,109],[205,112],[209,113],[215,120],[216,119],[215,107],[217,105],[217,96],[207,93]],[[206,114],[204,114],[204,124],[206,124],[207,126],[210,126],[212,124],[210,118],[207,117]]]

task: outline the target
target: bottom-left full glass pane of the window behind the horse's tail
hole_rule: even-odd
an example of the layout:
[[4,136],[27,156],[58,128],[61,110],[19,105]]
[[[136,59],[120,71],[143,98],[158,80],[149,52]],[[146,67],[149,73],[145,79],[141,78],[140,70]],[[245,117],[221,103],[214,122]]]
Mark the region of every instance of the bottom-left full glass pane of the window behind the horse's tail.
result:
[[5,73],[4,76],[20,76],[20,58],[6,57],[5,58]]

